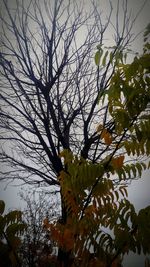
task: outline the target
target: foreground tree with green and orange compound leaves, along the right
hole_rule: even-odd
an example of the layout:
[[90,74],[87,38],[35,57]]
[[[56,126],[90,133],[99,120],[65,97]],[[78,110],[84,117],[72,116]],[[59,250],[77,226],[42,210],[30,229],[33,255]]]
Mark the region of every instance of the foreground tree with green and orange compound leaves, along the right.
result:
[[[104,102],[108,98],[109,115],[118,132],[117,142],[104,125],[98,125],[97,131],[113,151],[98,163],[68,150],[61,153],[67,170],[61,171],[58,178],[67,219],[64,225],[45,219],[44,225],[66,253],[64,266],[117,267],[122,266],[121,261],[129,251],[150,253],[150,206],[136,213],[127,199],[127,185],[121,184],[132,175],[141,176],[142,171],[150,167],[150,163],[147,166],[143,160],[127,164],[124,156],[150,155],[149,26],[144,34],[143,54],[131,64],[119,64],[110,87],[101,96]],[[99,53],[100,50],[96,63],[99,63]],[[130,138],[124,140],[124,133],[128,131]],[[120,149],[123,152],[118,156]],[[120,181],[117,187],[112,176]],[[149,266],[148,259],[145,266]]]

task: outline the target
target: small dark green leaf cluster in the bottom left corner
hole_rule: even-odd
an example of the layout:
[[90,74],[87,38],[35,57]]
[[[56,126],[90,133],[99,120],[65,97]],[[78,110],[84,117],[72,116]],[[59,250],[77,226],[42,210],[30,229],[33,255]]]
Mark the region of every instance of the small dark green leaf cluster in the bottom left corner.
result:
[[22,213],[18,210],[4,214],[5,203],[0,200],[0,262],[1,266],[20,267],[18,250],[21,245],[21,235],[26,229],[22,221]]

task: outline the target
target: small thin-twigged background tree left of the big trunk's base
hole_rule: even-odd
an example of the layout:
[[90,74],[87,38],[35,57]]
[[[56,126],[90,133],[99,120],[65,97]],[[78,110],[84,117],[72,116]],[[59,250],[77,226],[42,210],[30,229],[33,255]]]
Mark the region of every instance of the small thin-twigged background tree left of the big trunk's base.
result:
[[27,225],[20,248],[21,266],[39,266],[46,256],[56,254],[53,240],[43,228],[43,220],[47,218],[52,223],[59,219],[59,202],[52,193],[49,197],[49,194],[47,196],[45,192],[39,192],[37,189],[26,193],[21,191],[20,197],[26,204],[22,219]]

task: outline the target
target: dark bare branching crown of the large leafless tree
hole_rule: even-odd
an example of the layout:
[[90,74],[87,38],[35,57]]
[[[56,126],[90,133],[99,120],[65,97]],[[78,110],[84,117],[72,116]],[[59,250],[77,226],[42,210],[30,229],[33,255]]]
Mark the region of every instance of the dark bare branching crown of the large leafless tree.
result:
[[[96,132],[103,121],[112,131],[108,106],[97,105],[115,70],[110,59],[95,66],[94,53],[107,30],[113,30],[112,57],[127,49],[135,36],[127,1],[123,19],[112,23],[92,2],[16,0],[2,1],[0,38],[0,160],[1,179],[28,184],[58,185],[64,168],[59,154],[69,149],[93,162],[109,147]],[[4,15],[3,15],[4,13]],[[103,19],[103,21],[102,21]]]

